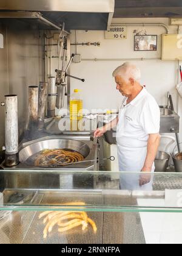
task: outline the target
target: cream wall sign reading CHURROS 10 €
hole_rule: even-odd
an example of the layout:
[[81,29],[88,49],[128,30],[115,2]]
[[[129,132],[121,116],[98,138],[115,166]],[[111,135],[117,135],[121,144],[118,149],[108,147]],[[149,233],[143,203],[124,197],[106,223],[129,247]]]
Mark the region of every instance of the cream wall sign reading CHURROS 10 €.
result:
[[112,26],[105,32],[106,39],[127,39],[127,29],[124,26]]

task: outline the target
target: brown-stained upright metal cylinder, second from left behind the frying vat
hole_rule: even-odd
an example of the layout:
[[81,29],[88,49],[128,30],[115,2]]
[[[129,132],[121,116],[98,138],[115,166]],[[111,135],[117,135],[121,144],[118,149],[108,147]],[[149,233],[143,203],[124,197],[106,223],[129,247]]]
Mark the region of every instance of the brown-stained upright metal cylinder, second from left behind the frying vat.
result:
[[39,87],[29,87],[29,130],[37,129],[38,125],[38,100],[39,100]]

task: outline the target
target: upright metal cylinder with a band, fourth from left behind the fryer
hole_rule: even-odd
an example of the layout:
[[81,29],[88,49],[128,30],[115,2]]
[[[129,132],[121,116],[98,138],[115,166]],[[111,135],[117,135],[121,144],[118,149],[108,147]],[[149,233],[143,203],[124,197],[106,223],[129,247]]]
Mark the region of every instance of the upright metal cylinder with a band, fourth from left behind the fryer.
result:
[[47,106],[47,117],[55,117],[55,105],[56,105],[56,77],[48,77],[48,106]]

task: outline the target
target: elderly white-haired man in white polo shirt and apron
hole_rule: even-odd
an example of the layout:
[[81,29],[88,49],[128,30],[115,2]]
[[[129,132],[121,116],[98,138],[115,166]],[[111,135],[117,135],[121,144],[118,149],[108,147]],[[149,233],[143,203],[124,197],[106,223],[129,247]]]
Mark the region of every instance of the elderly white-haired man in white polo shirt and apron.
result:
[[115,69],[113,77],[116,90],[124,96],[120,115],[97,129],[95,137],[101,137],[110,127],[117,126],[120,171],[133,172],[121,175],[121,189],[152,190],[150,173],[155,170],[154,160],[160,144],[160,108],[141,86],[140,69],[135,65],[124,63]]

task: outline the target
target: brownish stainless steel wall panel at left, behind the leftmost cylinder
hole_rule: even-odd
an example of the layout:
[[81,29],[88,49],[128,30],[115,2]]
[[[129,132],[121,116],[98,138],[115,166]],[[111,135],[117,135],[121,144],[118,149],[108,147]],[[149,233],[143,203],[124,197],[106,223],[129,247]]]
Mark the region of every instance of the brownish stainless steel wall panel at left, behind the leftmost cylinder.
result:
[[[28,87],[39,85],[39,81],[44,80],[43,36],[36,27],[29,27],[21,21],[6,21],[2,27],[4,49],[0,49],[0,101],[4,101],[5,94],[18,95],[21,135],[27,126]],[[1,147],[4,144],[4,107],[0,107],[0,118]]]

